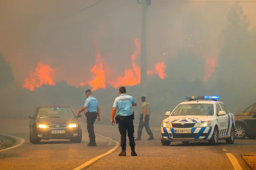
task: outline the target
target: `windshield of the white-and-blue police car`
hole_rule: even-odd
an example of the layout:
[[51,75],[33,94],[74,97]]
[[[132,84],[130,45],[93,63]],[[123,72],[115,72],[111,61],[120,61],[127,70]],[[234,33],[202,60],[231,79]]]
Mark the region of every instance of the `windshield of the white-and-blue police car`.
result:
[[205,103],[180,104],[171,114],[171,116],[190,116],[190,115],[213,116],[213,104],[205,104]]

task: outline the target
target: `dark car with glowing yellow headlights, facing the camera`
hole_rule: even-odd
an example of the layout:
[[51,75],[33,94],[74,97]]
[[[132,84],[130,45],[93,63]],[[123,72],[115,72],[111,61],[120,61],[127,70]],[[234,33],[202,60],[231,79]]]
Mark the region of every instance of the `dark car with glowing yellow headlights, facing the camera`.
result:
[[30,143],[38,144],[42,139],[69,139],[81,143],[82,129],[73,110],[68,105],[38,106],[29,120]]

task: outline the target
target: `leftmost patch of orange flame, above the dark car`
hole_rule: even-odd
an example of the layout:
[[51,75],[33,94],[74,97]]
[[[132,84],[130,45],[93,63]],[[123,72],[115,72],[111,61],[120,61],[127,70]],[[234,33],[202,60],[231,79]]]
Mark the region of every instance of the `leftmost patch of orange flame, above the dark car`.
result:
[[31,91],[35,90],[35,87],[41,85],[55,85],[53,79],[56,69],[51,68],[50,65],[38,63],[35,72],[30,72],[29,77],[25,79],[24,88]]

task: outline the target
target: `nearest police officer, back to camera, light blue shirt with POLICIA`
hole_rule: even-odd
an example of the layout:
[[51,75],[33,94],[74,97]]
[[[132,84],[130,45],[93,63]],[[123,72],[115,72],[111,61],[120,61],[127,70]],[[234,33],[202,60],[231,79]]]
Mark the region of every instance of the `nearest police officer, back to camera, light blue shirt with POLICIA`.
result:
[[131,155],[137,156],[135,152],[135,141],[134,141],[134,126],[133,126],[133,118],[134,115],[132,113],[132,106],[137,106],[136,101],[132,96],[126,94],[126,88],[120,87],[119,88],[120,96],[117,97],[113,104],[112,110],[112,118],[111,124],[114,125],[114,117],[116,111],[118,110],[117,115],[117,123],[119,127],[119,132],[121,134],[121,147],[122,151],[119,153],[119,156],[126,156],[126,135],[128,134],[129,137],[129,144],[131,147]]

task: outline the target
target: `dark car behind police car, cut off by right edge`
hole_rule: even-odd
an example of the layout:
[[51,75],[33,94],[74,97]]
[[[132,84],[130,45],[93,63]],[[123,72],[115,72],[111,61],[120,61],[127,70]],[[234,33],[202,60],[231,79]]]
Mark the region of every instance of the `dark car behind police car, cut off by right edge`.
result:
[[247,107],[239,115],[235,116],[236,128],[235,136],[237,139],[256,138],[256,103]]

